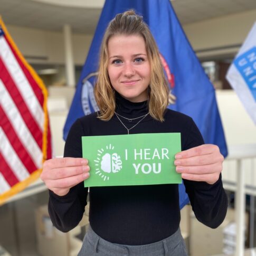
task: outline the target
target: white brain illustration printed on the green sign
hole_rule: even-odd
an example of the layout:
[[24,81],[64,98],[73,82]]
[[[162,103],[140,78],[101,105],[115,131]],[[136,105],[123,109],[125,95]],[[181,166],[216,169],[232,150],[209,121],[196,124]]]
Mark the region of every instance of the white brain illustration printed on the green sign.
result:
[[101,169],[105,173],[117,173],[122,168],[122,161],[117,153],[106,153],[102,156]]

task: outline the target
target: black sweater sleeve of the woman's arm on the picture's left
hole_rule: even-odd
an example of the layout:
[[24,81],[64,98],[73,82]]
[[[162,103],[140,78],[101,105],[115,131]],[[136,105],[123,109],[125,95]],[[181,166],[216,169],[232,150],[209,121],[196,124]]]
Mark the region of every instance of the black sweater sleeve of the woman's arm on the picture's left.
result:
[[[64,157],[82,157],[81,136],[84,135],[78,119],[69,131],[64,148]],[[83,182],[72,187],[67,195],[58,196],[49,190],[49,214],[53,225],[62,232],[68,232],[81,221],[87,205],[88,187]]]

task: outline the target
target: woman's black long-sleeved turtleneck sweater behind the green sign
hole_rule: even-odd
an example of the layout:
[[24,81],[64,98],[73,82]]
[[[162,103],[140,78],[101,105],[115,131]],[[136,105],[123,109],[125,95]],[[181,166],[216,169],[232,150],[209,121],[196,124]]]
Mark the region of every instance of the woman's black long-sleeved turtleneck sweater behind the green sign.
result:
[[[136,118],[148,112],[146,101],[133,103],[120,96],[116,101],[116,111],[124,117]],[[181,132],[182,150],[204,143],[192,118],[169,109],[164,118],[164,122],[159,122],[148,115],[130,134]],[[139,119],[121,120],[130,128]],[[127,134],[127,130],[116,116],[109,121],[100,120],[97,113],[84,116],[75,121],[69,131],[64,157],[82,157],[82,136],[122,134]],[[184,184],[196,218],[207,226],[219,226],[227,210],[221,176],[213,185],[185,179]],[[82,218],[87,194],[88,188],[84,188],[83,183],[72,187],[65,196],[50,191],[49,213],[54,226],[63,232],[73,229]],[[167,238],[178,229],[181,219],[178,184],[90,187],[89,196],[90,225],[109,242],[148,244]]]

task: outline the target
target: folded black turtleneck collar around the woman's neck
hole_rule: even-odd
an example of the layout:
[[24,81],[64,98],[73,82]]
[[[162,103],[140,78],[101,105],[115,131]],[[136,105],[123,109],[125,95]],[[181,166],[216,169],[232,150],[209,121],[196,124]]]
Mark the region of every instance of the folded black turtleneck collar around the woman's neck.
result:
[[136,118],[148,113],[148,101],[131,102],[116,92],[116,112],[126,118]]

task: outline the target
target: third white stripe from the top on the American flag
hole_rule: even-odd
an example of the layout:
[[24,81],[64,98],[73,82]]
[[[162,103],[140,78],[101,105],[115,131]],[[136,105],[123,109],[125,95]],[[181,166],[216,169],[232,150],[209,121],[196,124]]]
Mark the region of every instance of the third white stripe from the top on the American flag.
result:
[[0,151],[6,159],[7,164],[11,167],[13,173],[16,175],[19,181],[23,181],[30,176],[20,158],[16,155],[10,141],[4,134],[3,129],[0,127],[0,140],[3,141],[0,145]]

